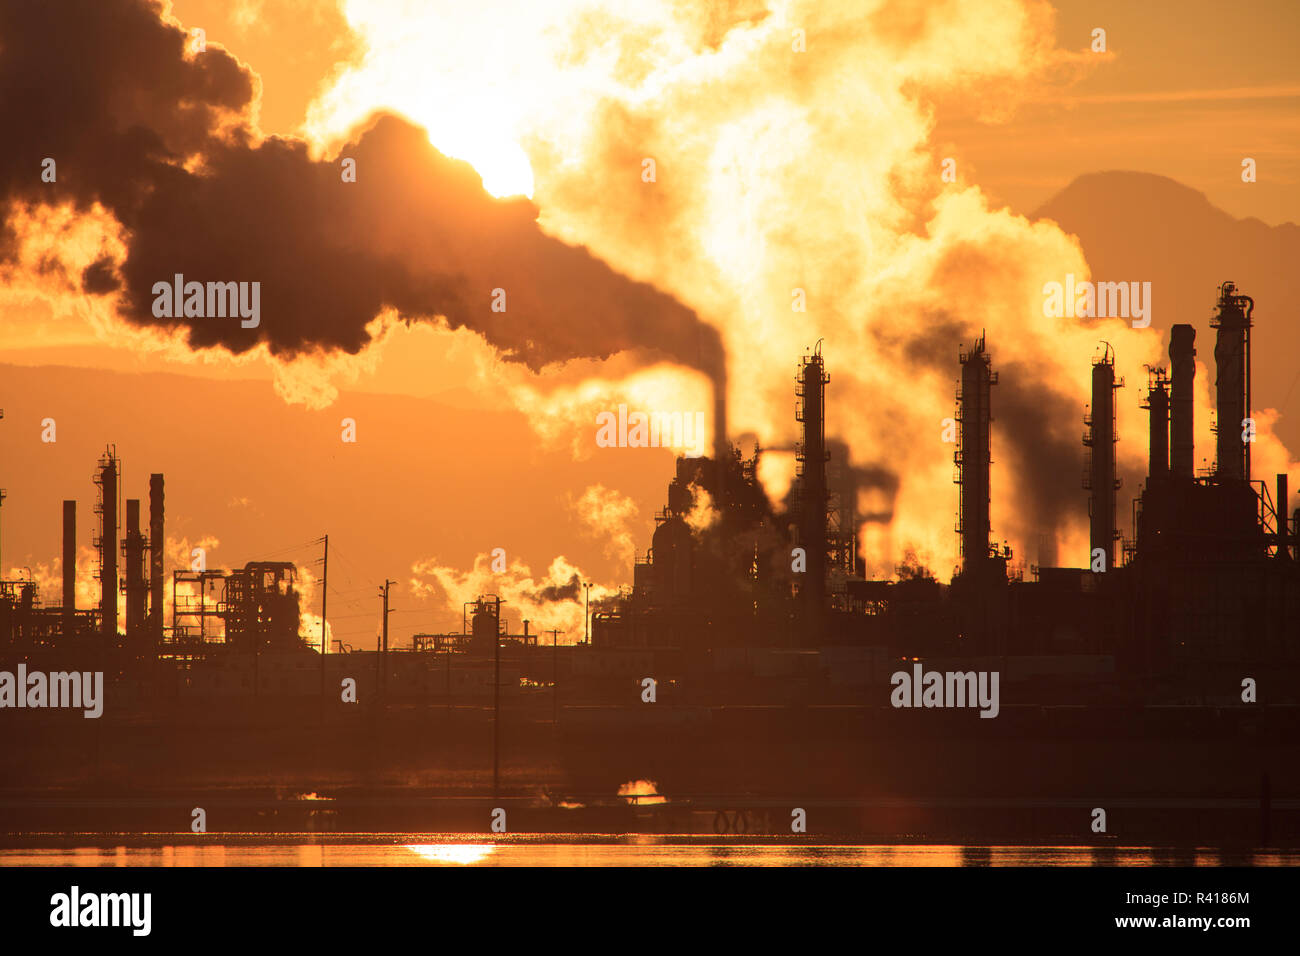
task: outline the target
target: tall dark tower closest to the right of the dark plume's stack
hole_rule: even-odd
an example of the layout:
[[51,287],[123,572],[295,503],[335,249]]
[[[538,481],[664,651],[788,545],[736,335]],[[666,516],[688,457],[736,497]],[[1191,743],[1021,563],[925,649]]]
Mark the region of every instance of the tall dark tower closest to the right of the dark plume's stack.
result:
[[807,554],[807,571],[800,594],[807,613],[820,620],[826,609],[827,492],[826,384],[831,378],[822,363],[822,342],[800,363],[794,419],[803,424],[803,441],[794,449],[800,477],[800,546]]

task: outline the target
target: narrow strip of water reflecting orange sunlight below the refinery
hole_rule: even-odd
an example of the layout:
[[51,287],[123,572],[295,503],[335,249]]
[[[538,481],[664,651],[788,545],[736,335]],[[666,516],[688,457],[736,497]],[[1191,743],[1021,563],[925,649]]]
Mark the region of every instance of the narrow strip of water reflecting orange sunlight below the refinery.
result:
[[[39,834],[29,839],[40,842]],[[86,834],[0,849],[0,866],[1296,866],[1300,851],[780,843],[689,835],[222,834],[181,842]]]

